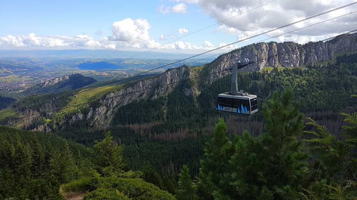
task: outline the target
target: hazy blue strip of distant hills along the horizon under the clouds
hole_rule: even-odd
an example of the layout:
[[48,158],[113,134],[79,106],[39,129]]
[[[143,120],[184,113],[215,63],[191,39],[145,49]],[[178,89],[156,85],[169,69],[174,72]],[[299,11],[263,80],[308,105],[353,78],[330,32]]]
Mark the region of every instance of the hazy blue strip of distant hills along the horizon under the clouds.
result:
[[[137,54],[141,53],[138,56]],[[217,53],[203,54],[196,58],[206,58]],[[196,54],[183,53],[162,53],[162,52],[139,52],[139,51],[117,51],[117,50],[90,50],[90,49],[74,49],[74,50],[0,50],[2,58],[129,58],[135,56],[136,59],[166,59],[175,60],[194,56]],[[210,58],[210,61],[217,56]]]

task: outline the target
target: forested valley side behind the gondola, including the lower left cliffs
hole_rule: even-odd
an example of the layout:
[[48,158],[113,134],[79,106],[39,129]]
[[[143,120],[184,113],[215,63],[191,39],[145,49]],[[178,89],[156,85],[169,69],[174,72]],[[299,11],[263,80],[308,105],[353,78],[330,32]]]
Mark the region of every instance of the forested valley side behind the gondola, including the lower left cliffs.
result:
[[[260,109],[271,98],[273,91],[292,88],[296,94],[294,101],[301,102],[300,111],[323,125],[335,125],[338,128],[331,130],[331,133],[338,134],[343,125],[338,113],[354,112],[357,107],[356,99],[350,98],[350,95],[357,94],[357,85],[354,84],[357,82],[356,57],[356,53],[352,53],[338,56],[334,63],[325,65],[239,73],[238,86],[259,97]],[[95,96],[98,100],[102,99],[100,101],[69,112],[52,112],[51,115],[46,111],[66,107],[77,91],[40,95],[39,98],[31,96],[19,101],[13,108],[70,97],[17,112],[18,116],[40,115],[4,123],[26,130],[54,132],[86,146],[91,146],[96,139],[100,140],[100,132],[109,128],[113,130],[117,143],[126,144],[124,157],[132,169],[140,169],[144,161],[149,161],[162,175],[166,172],[177,174],[182,164],[188,164],[192,173],[197,173],[198,158],[203,155],[202,147],[219,117],[226,120],[228,136],[240,134],[245,129],[253,136],[263,131],[260,113],[240,119],[220,116],[215,111],[217,94],[230,91],[231,76],[212,83],[206,78],[180,82],[210,70],[210,65],[167,70],[156,77],[127,82],[113,92],[104,91],[101,96]],[[114,96],[118,97],[112,98]]]

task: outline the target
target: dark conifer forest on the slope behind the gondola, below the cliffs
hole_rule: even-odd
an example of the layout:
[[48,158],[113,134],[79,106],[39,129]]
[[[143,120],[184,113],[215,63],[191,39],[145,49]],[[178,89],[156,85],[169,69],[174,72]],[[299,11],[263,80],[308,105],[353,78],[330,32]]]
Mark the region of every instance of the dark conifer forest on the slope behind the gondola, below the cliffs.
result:
[[[339,64],[309,66],[308,68],[275,68],[272,72],[251,72],[239,74],[239,86],[256,94],[261,105],[266,103],[273,91],[292,88],[294,101],[301,102],[300,111],[305,117],[312,117],[322,125],[330,125],[331,133],[341,132],[343,117],[341,111],[355,112],[357,93],[356,54],[337,57]],[[201,82],[202,81],[202,82]],[[124,157],[129,166],[139,169],[144,161],[149,161],[161,174],[178,173],[182,164],[187,164],[191,173],[198,172],[198,159],[203,155],[205,141],[211,137],[213,126],[219,117],[224,117],[228,127],[228,137],[248,130],[253,136],[263,132],[263,119],[257,113],[248,119],[220,116],[215,111],[217,94],[230,90],[231,77],[226,76],[213,83],[204,80],[181,83],[170,93],[158,98],[132,101],[113,109],[110,130],[119,144],[126,144]],[[185,88],[196,85],[199,95],[185,94]],[[149,93],[150,94],[150,93]],[[338,95],[337,95],[338,94]],[[95,107],[84,107],[81,114],[88,116]],[[71,119],[71,118],[67,118]],[[92,145],[100,140],[100,131],[88,130],[95,127],[89,120],[65,122],[57,134],[85,144]]]

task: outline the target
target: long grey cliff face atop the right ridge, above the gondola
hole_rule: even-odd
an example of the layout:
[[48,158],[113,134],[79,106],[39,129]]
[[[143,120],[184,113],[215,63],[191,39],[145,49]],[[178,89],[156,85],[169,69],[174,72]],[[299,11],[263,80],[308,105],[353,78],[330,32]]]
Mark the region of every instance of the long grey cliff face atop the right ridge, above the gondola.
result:
[[[310,44],[310,42],[307,44]],[[278,54],[291,51],[292,49],[303,47],[307,44],[301,45],[292,42],[252,44],[250,46],[234,50],[230,53],[223,54],[214,60],[210,67],[213,68],[212,73],[220,72],[231,68],[234,62],[242,60],[243,58],[255,61],[265,58],[269,59],[250,65],[246,69],[242,69],[242,72],[260,71],[265,67],[295,68],[302,65],[314,65],[317,62],[332,60],[335,52],[357,51],[357,34],[351,34],[346,37],[337,37],[336,39],[327,42],[321,42],[318,45],[312,45],[310,47],[276,56]],[[228,74],[227,71],[214,74],[209,77],[209,80],[212,82],[226,74]]]

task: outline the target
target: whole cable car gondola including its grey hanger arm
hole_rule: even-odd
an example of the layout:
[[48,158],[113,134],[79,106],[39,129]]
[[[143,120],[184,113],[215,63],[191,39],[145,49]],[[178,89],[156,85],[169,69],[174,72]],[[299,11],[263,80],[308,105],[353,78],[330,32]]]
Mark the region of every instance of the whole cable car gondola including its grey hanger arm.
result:
[[232,91],[218,94],[216,110],[221,114],[233,115],[239,117],[248,117],[258,112],[257,95],[245,93],[243,90],[238,91],[237,70],[251,64],[247,58],[243,62],[237,61],[233,65],[232,74]]

